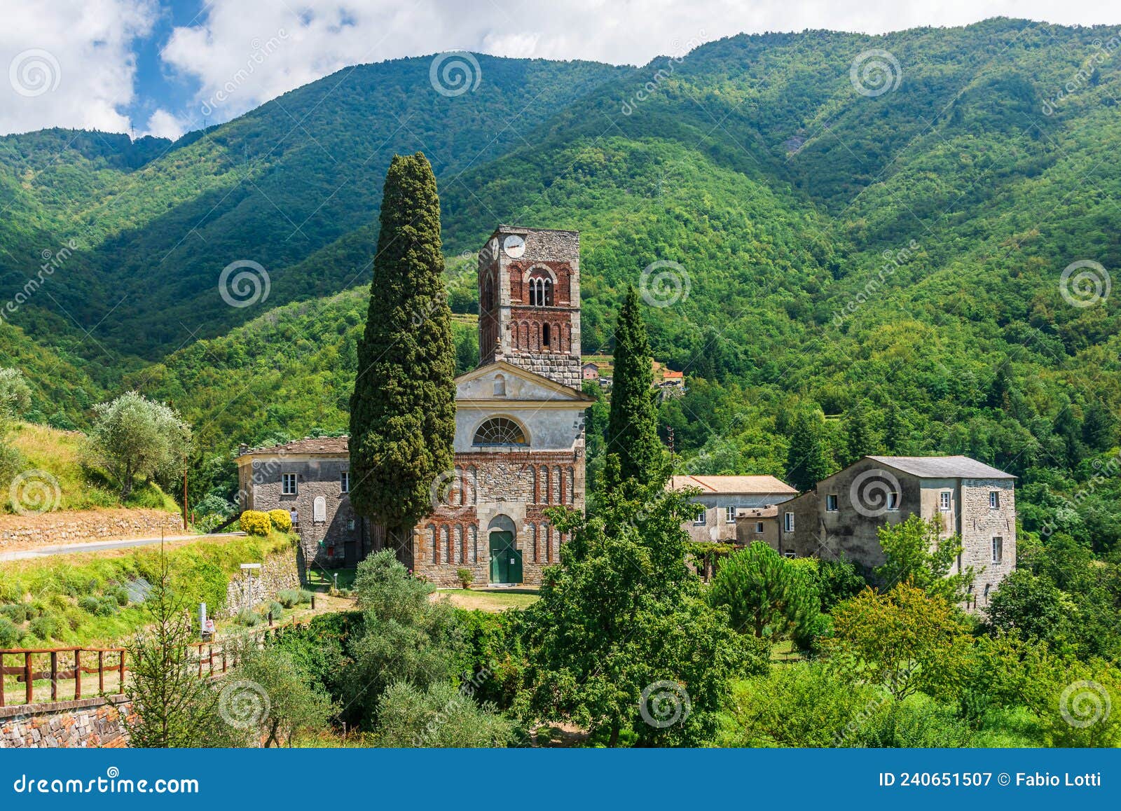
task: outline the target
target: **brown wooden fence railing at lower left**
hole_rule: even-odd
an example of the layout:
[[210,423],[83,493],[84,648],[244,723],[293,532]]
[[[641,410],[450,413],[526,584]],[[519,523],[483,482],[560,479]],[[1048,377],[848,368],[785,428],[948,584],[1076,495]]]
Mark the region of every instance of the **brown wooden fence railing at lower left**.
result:
[[[221,642],[193,642],[188,646],[194,653],[192,655],[192,668],[197,663],[198,678],[222,675],[230,665],[226,656],[225,645]],[[105,678],[112,682],[115,677],[117,684],[110,683],[112,692],[124,692],[124,679],[129,671],[128,654],[123,647],[17,647],[0,650],[0,707],[11,703],[47,703],[45,697],[38,701],[35,697],[35,682],[50,682],[49,702],[70,701],[80,699],[83,693],[82,677],[96,675],[98,687],[94,692],[92,686],[85,689],[94,696],[104,696]],[[7,690],[7,677],[15,675],[16,682],[22,682],[22,690],[17,690],[17,695],[22,692],[24,700],[11,702]],[[59,687],[65,692],[70,692],[73,687],[73,696],[58,698]],[[115,689],[113,689],[115,687]]]

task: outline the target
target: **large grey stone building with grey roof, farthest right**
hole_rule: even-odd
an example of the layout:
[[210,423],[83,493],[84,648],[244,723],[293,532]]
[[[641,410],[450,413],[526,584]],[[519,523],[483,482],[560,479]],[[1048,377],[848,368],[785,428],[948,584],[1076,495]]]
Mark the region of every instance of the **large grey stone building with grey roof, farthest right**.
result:
[[1016,568],[1016,476],[967,456],[865,456],[780,507],[779,551],[883,563],[878,529],[918,515],[958,534],[954,571],[973,567],[984,607]]

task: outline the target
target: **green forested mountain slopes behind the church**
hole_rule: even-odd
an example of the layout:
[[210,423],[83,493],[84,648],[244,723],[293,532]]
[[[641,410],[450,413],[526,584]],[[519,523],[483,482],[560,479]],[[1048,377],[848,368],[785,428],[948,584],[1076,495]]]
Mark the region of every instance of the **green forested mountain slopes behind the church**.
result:
[[[641,68],[480,56],[478,88],[451,97],[429,58],[405,59],[174,145],[4,138],[0,280],[18,289],[76,240],[11,320],[106,390],[174,400],[206,453],[341,430],[381,178],[423,150],[457,313],[474,307],[463,254],[499,222],[582,232],[585,352],[610,351],[643,268],[680,267],[661,269],[687,296],[656,291],[670,306],[647,318],[655,355],[687,374],[663,407],[683,467],[782,475],[812,411],[835,465],[965,453],[1038,504],[1118,441],[1113,279],[1090,267],[1097,295],[1062,280],[1121,267],[1118,45],[995,19],[739,36]],[[268,270],[267,301],[222,301],[235,260]],[[1067,519],[1115,542],[1117,511],[1087,519],[1088,503]]]

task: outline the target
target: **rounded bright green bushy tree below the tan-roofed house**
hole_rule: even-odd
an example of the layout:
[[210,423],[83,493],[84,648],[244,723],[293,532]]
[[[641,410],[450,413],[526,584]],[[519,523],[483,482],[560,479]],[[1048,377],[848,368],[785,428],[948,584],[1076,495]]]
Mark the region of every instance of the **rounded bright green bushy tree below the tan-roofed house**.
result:
[[708,586],[708,603],[723,606],[732,627],[781,638],[817,616],[821,598],[813,571],[756,541],[725,558]]

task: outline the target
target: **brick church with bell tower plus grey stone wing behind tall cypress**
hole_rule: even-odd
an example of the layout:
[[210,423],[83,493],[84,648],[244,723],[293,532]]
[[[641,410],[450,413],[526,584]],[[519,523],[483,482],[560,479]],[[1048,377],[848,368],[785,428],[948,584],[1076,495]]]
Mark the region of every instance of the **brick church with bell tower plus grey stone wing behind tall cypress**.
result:
[[[455,380],[455,467],[398,558],[439,586],[538,585],[566,540],[545,515],[584,510],[580,234],[499,226],[479,254],[480,365]],[[350,504],[348,440],[238,454],[242,510],[289,511],[309,566],[356,566],[385,532]]]

